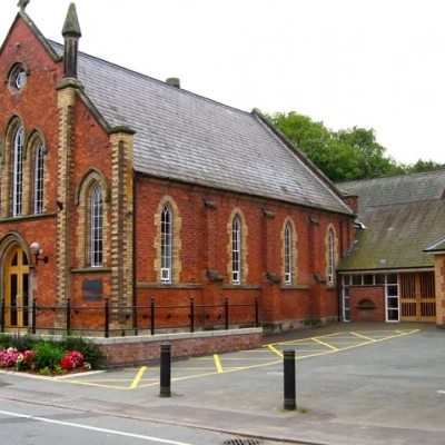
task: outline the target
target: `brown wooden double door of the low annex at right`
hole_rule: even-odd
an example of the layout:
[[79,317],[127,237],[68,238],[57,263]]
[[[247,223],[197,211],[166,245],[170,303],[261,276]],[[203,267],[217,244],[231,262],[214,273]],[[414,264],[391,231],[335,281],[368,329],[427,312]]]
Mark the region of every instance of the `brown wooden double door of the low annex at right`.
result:
[[399,274],[400,322],[436,322],[434,273]]

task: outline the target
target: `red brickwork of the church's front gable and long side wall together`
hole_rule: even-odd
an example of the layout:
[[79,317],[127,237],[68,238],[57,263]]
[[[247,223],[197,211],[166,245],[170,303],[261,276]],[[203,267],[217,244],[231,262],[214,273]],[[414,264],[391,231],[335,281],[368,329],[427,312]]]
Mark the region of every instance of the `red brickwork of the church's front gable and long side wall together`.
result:
[[[21,42],[16,46],[16,42]],[[58,171],[58,110],[56,86],[62,79],[62,63],[55,63],[32,36],[28,27],[20,20],[12,29],[10,38],[1,53],[1,72],[3,79],[8,77],[8,68],[17,60],[26,60],[31,76],[22,93],[11,95],[8,88],[0,89],[0,128],[4,134],[8,119],[18,113],[23,119],[27,131],[39,128],[47,140],[48,155],[46,168],[48,182],[46,184],[48,217],[37,217],[32,220],[8,221],[0,225],[0,239],[11,231],[20,234],[29,246],[38,241],[50,258],[49,264],[39,263],[32,270],[37,278],[33,296],[40,305],[53,305],[57,301],[57,171]],[[46,106],[42,107],[41,103]],[[111,179],[111,151],[106,132],[79,100],[75,109],[76,131],[73,134],[75,158],[72,194],[79,186],[83,175],[90,167],[100,168],[110,184]],[[165,196],[171,196],[181,218],[181,249],[179,253],[181,270],[179,281],[172,285],[157,283],[155,258],[158,253],[155,247],[155,211]],[[202,198],[210,197],[216,208],[204,206]],[[194,297],[196,304],[220,304],[225,297],[230,303],[251,304],[255,297],[259,299],[260,319],[277,323],[283,319],[329,319],[338,315],[338,297],[335,288],[317,283],[315,274],[326,275],[326,245],[325,238],[329,225],[333,225],[337,235],[339,259],[354,236],[352,219],[346,216],[335,215],[306,207],[253,198],[240,194],[204,189],[196,186],[185,186],[175,182],[142,179],[136,184],[136,297],[137,303],[148,305],[151,297],[157,304],[178,305],[187,304]],[[65,204],[67,205],[67,204]],[[73,204],[71,202],[73,206]],[[274,217],[267,218],[263,209],[267,207]],[[231,286],[227,271],[229,255],[227,246],[229,235],[227,225],[235,208],[243,211],[247,235],[247,264],[248,274],[243,278],[241,286]],[[69,241],[73,246],[72,268],[77,264],[78,224],[77,212],[73,212],[72,233]],[[108,215],[110,218],[110,215]],[[297,279],[295,286],[286,287],[281,283],[271,283],[266,273],[281,275],[281,231],[286,218],[291,218],[296,228],[297,243]],[[110,222],[110,219],[109,219]],[[110,239],[108,234],[108,238]],[[105,258],[109,264],[110,258]],[[217,269],[224,280],[209,283],[207,269]],[[102,279],[103,297],[111,296],[110,273],[89,274],[76,271],[71,276],[70,289],[67,293],[72,297],[76,306],[97,306],[96,303],[83,301],[81,285],[83,279]],[[100,301],[102,305],[103,301]],[[219,316],[219,309],[204,314],[211,318]],[[233,319],[245,318],[246,310],[239,308],[239,314],[230,314]],[[73,327],[85,324],[96,327],[101,325],[102,315],[97,313],[88,319],[73,315]],[[172,323],[172,317],[164,320]],[[182,317],[184,316],[179,316]],[[116,322],[116,320],[112,320]],[[138,319],[138,325],[148,322],[144,314]],[[162,322],[162,323],[164,323]],[[187,322],[182,319],[182,322]]]

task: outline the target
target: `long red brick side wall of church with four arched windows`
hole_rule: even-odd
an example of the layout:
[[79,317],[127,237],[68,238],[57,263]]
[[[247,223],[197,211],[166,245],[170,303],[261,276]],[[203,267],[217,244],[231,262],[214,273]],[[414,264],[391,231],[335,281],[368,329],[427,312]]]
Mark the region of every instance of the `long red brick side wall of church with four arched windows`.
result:
[[[172,197],[181,218],[180,283],[172,285],[156,283],[155,270],[155,258],[158,254],[154,245],[154,209],[158,208],[165,196]],[[204,197],[210,197],[216,208],[205,207]],[[337,289],[316,283],[314,274],[326,274],[325,238],[329,224],[334,226],[338,238],[337,255],[340,256],[348,247],[353,227],[347,218],[229,192],[148,179],[137,184],[136,201],[144,202],[136,211],[138,301],[148,304],[149,297],[154,296],[157,301],[174,304],[195,296],[197,300],[208,305],[219,304],[224,297],[233,303],[253,303],[258,297],[260,319],[265,322],[337,317]],[[273,211],[274,218],[265,218],[265,207]],[[248,274],[240,286],[231,286],[227,271],[227,225],[234,208],[243,211],[248,230]],[[285,287],[281,283],[271,284],[266,277],[267,271],[277,275],[281,273],[281,231],[288,217],[295,221],[297,233],[298,274],[294,287]],[[310,219],[317,222],[313,224]],[[206,276],[208,268],[217,269],[224,280],[209,283]],[[199,288],[194,288],[196,285]]]

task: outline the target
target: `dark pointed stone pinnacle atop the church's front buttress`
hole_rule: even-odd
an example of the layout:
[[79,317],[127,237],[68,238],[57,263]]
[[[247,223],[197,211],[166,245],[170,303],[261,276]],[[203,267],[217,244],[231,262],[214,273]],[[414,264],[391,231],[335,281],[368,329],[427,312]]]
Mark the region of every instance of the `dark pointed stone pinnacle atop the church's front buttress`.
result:
[[63,78],[77,79],[77,58],[81,32],[75,3],[69,6],[62,36],[65,38]]

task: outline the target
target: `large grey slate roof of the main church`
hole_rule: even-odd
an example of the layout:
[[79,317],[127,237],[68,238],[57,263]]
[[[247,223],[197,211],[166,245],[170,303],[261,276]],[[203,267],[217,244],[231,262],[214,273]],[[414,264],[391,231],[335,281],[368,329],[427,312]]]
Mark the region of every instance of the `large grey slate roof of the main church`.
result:
[[336,187],[261,116],[81,52],[78,78],[110,128],[136,131],[137,171],[352,215]]

